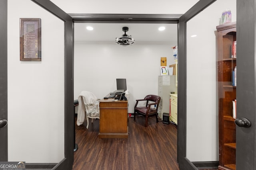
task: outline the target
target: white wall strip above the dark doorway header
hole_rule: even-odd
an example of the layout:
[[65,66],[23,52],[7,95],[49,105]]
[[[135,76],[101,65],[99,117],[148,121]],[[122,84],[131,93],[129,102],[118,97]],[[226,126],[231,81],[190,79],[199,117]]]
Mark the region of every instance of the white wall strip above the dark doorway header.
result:
[[184,14],[198,0],[51,0],[67,13]]

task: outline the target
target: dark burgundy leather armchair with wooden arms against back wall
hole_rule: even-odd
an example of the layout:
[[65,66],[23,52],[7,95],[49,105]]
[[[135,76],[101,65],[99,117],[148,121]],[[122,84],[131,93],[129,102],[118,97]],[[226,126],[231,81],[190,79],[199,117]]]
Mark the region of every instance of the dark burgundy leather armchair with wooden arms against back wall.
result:
[[[136,100],[136,104],[134,106],[134,121],[136,119],[136,113],[137,113],[146,117],[145,127],[148,126],[148,117],[150,116],[156,116],[156,123],[158,123],[157,110],[158,110],[160,100],[161,100],[161,97],[156,95],[148,95],[144,99]],[[142,101],[146,102],[146,106],[137,107],[138,103]],[[156,105],[156,108],[151,107],[154,105]]]

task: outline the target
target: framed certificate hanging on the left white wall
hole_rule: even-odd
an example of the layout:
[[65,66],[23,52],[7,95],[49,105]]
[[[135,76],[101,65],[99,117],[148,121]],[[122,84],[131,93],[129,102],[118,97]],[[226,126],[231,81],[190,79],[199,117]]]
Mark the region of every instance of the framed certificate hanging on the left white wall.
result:
[[41,60],[41,19],[20,18],[20,61]]

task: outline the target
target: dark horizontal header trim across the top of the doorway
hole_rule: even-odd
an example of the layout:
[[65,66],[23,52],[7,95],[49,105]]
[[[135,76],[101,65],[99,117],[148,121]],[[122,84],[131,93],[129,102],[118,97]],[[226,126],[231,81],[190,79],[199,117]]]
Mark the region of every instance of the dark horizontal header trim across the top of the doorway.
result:
[[69,14],[82,23],[178,23],[182,14]]

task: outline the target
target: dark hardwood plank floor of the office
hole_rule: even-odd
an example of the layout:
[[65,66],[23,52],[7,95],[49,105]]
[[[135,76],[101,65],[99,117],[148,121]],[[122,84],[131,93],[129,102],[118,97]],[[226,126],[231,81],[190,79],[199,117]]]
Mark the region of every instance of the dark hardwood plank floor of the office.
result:
[[[118,120],[116,120],[118,121]],[[179,170],[177,127],[143,116],[128,119],[128,139],[99,139],[99,120],[76,125],[73,170]]]

